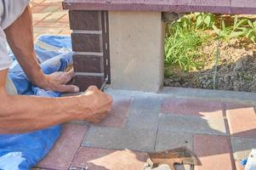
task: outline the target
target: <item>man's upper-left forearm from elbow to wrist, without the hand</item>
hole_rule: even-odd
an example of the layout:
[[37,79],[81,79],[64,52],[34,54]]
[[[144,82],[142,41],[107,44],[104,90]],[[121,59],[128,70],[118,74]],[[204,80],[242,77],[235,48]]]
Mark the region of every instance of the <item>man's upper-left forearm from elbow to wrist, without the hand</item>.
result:
[[43,82],[44,74],[37,61],[33,43],[33,26],[29,6],[14,23],[4,30],[9,46],[26,72],[26,76],[37,86]]

